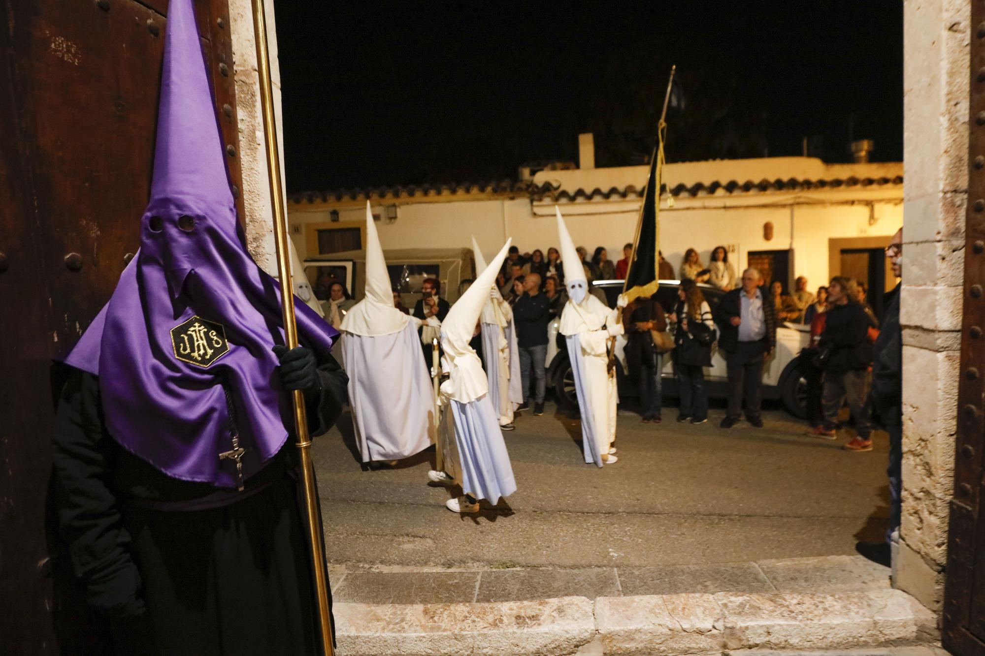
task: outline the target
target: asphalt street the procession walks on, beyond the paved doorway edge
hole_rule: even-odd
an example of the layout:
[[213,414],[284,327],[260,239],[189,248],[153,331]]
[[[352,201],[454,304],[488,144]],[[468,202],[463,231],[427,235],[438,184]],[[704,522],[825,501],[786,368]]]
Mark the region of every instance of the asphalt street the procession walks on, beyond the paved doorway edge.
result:
[[428,450],[362,471],[348,414],[313,447],[333,563],[399,569],[452,566],[631,566],[852,555],[886,528],[886,434],[875,450],[803,434],[782,411],[746,423],[641,424],[620,411],[618,463],[581,454],[575,420],[547,404],[505,433],[517,492],[476,515],[444,507],[427,483]]

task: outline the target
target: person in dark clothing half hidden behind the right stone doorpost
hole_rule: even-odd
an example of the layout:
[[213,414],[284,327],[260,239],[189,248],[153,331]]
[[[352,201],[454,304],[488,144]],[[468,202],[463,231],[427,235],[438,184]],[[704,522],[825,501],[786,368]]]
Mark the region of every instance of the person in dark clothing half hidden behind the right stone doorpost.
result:
[[[886,246],[886,258],[892,266],[896,278],[902,276],[903,230],[892,235]],[[876,340],[876,360],[872,366],[872,391],[869,404],[872,419],[889,433],[889,463],[886,475],[889,477],[889,526],[886,541],[881,543],[860,542],[855,545],[862,556],[880,564],[891,564],[893,534],[899,530],[899,517],[902,501],[899,493],[902,487],[901,466],[903,459],[903,340],[899,326],[899,288],[901,284],[885,296],[883,307],[883,327]]]

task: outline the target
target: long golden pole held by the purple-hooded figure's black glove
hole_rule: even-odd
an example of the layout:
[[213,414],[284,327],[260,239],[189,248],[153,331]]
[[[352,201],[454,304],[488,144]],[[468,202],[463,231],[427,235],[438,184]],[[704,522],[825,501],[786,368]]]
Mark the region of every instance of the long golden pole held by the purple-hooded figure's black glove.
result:
[[[277,144],[277,120],[274,114],[273,84],[270,76],[270,51],[267,46],[267,17],[264,0],[253,2],[253,35],[256,38],[256,63],[259,74],[260,105],[263,113],[264,144],[267,150],[267,173],[270,179],[270,201],[274,211],[274,242],[277,244],[277,269],[281,280],[281,309],[284,318],[285,346],[297,346],[295,322],[295,295],[291,281],[291,251],[288,247],[288,218],[284,208],[284,183],[281,180],[281,156]],[[300,456],[300,484],[304,497],[308,543],[311,548],[311,570],[314,575],[317,613],[321,630],[321,644],[325,656],[333,656],[332,616],[328,603],[328,576],[321,515],[318,511],[318,491],[315,487],[314,465],[311,462],[311,440],[308,436],[307,413],[300,390],[294,391],[295,432],[297,453]]]

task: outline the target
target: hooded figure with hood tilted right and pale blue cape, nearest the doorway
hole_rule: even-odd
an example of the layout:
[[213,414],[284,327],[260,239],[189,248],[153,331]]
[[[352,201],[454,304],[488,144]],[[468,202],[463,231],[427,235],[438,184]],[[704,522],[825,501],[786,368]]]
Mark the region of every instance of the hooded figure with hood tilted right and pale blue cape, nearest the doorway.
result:
[[[441,366],[448,375],[440,391],[446,471],[432,470],[427,476],[435,483],[461,485],[464,495],[445,503],[453,512],[478,512],[479,499],[495,504],[516,492],[498,413],[490,398],[489,379],[479,356],[469,346],[509,244],[507,241],[441,322]],[[450,439],[451,433],[454,439]]]

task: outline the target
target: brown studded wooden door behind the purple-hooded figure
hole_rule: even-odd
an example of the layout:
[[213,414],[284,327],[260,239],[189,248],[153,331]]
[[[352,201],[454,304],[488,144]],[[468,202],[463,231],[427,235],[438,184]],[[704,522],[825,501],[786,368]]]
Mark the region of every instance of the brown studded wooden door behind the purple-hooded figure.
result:
[[[166,10],[167,0],[4,0],[0,653],[102,648],[71,576],[59,576],[66,563],[45,519],[57,392],[50,361],[79,339],[139,244]],[[229,8],[195,0],[195,10],[238,199]]]

